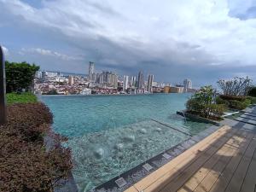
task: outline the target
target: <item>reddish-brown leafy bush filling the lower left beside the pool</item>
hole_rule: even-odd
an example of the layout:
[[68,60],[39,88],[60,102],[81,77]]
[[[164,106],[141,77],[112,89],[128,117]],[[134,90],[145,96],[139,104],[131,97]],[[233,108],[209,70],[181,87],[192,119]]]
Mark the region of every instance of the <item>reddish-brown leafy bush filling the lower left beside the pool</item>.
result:
[[71,151],[45,148],[44,134],[50,130],[52,115],[42,103],[8,107],[8,123],[0,126],[0,191],[49,192],[72,168]]

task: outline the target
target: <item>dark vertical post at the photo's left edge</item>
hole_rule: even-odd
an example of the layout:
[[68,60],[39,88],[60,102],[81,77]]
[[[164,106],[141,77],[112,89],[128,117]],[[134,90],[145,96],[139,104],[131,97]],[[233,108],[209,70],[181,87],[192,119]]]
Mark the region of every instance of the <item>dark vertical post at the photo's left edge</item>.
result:
[[0,45],[0,125],[6,123],[6,81],[3,48]]

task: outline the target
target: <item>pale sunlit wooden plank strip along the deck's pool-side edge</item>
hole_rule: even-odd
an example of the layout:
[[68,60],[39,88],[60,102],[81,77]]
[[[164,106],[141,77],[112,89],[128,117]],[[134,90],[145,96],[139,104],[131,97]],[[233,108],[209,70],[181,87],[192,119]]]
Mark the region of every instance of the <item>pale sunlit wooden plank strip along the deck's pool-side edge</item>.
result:
[[134,185],[135,188],[138,191],[146,189],[149,185],[160,179],[160,177],[164,177],[168,172],[173,172],[178,164],[188,163],[190,160],[195,158],[199,148],[207,148],[207,144],[215,142],[218,137],[227,134],[227,132],[229,131],[229,126],[221,127],[218,131],[213,132],[210,136],[206,137],[200,143],[196,143],[193,147],[183,152],[183,154],[178,155],[175,159],[167,163],[165,166],[160,167],[158,170],[148,175],[148,177],[144,177],[141,181]]

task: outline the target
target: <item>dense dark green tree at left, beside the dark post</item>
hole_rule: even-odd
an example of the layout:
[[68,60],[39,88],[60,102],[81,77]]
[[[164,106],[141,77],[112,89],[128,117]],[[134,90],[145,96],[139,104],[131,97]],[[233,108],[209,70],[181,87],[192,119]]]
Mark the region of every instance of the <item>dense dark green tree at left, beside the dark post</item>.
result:
[[39,67],[35,64],[5,61],[6,91],[9,93],[19,89],[29,89],[38,70]]

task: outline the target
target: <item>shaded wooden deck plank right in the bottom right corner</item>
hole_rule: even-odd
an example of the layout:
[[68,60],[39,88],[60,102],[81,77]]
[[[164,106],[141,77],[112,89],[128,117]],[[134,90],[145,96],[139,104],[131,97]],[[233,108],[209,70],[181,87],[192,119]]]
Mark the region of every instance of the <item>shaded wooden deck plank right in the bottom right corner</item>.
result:
[[254,150],[253,159],[248,168],[247,175],[241,185],[241,192],[254,192],[255,186],[256,186],[256,153]]

